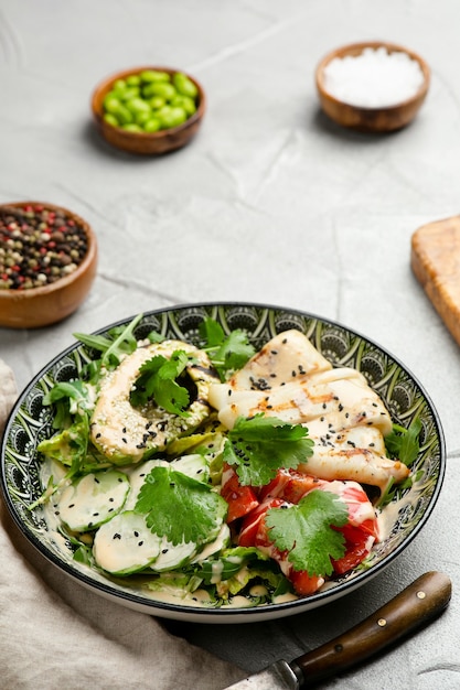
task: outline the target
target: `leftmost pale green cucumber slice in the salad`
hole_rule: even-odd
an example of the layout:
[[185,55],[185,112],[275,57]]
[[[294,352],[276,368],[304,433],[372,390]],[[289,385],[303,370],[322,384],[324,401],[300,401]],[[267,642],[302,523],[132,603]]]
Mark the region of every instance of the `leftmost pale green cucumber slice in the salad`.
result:
[[129,490],[128,477],[118,470],[87,474],[63,489],[60,518],[73,531],[95,529],[121,510]]

